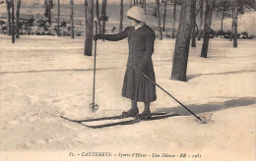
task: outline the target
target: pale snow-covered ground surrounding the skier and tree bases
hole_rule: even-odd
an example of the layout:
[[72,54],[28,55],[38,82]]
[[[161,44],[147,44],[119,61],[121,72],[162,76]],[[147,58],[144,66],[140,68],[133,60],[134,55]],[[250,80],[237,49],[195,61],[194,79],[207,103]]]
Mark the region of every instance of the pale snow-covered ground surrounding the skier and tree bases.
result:
[[[197,42],[190,48],[188,82],[170,80],[174,39],[156,41],[157,82],[211,119],[210,124],[198,124],[158,89],[152,111],[180,116],[96,130],[59,116],[97,118],[130,108],[121,96],[127,41],[97,42],[95,113],[88,107],[94,57],[83,55],[84,37],[22,36],[16,41],[0,35],[1,160],[255,160],[255,39],[238,40],[238,48],[226,39],[211,39],[207,59],[200,58],[202,41]],[[142,111],[143,104],[139,106]],[[113,121],[90,124],[106,122]],[[111,152],[112,157],[70,156],[93,151]],[[118,156],[135,152],[147,157]],[[197,154],[201,157],[192,157]]]

